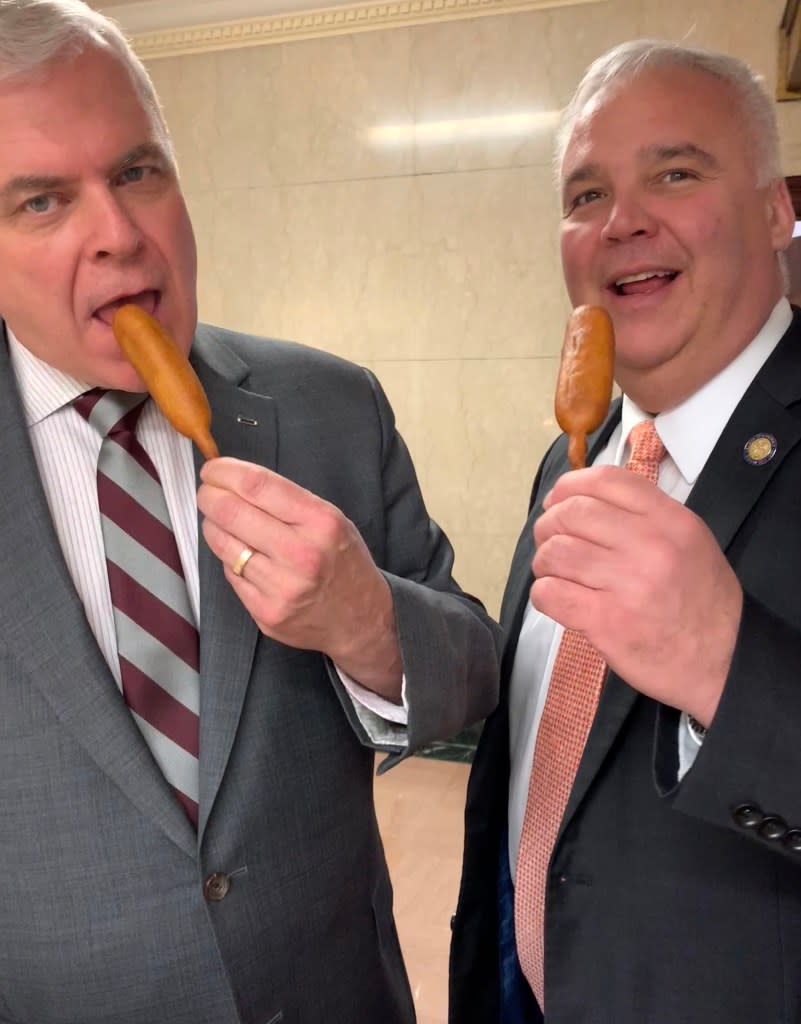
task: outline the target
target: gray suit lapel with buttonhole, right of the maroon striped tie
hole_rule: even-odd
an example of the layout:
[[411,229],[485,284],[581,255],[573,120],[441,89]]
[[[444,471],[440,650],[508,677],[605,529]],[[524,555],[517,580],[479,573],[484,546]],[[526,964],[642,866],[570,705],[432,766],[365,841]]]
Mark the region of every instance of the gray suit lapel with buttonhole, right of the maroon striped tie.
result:
[[[265,344],[267,344],[265,342]],[[212,408],[212,433],[222,456],[277,467],[278,418],[270,397],[240,385],[250,368],[219,345],[207,328],[198,332],[193,364]],[[196,453],[198,471],[202,465]],[[230,756],[260,633],[234,593],[223,568],[199,534],[201,617],[200,820],[208,822]]]

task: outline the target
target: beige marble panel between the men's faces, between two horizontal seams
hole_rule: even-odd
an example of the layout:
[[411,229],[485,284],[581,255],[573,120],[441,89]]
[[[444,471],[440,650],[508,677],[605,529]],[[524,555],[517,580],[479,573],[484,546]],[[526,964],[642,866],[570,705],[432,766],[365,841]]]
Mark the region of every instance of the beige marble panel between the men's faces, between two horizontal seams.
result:
[[201,191],[189,203],[207,319],[361,361],[559,351],[567,304],[546,169]]

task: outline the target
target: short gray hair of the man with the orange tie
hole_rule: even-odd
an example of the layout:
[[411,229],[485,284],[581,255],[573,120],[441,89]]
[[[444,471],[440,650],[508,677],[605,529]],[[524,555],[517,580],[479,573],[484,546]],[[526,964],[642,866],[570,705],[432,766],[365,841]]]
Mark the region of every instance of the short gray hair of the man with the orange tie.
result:
[[737,57],[659,39],[635,39],[604,53],[587,69],[562,113],[556,132],[555,172],[561,175],[564,153],[578,121],[601,89],[622,84],[643,70],[677,68],[697,71],[724,82],[735,96],[751,134],[757,187],[782,177],[775,105],[762,79]]

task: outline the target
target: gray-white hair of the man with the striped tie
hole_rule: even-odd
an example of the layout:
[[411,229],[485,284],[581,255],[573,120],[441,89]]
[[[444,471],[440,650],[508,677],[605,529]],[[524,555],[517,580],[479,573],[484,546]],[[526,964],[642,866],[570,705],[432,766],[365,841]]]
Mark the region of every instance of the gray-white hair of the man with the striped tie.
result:
[[83,0],[0,0],[0,83],[33,78],[54,60],[87,49],[116,57],[174,162],[172,142],[156,89],[120,27]]

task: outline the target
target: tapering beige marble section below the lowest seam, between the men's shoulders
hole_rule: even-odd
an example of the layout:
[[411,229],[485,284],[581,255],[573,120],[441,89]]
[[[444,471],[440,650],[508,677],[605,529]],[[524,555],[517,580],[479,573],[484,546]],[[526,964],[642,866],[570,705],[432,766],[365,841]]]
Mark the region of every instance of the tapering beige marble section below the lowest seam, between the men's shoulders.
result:
[[493,613],[525,521],[534,475],[557,433],[558,360],[377,361],[456,577]]

